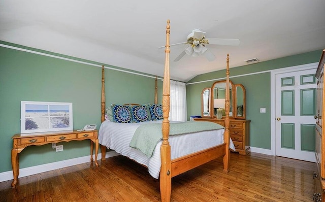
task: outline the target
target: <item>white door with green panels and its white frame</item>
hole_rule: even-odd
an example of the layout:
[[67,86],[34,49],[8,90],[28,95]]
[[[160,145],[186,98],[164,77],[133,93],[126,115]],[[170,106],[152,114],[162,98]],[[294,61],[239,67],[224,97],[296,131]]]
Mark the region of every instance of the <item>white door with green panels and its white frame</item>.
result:
[[271,150],[275,156],[315,162],[317,64],[271,72]]

